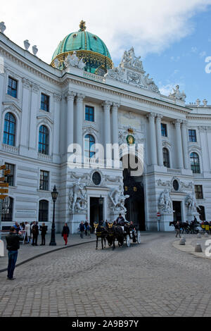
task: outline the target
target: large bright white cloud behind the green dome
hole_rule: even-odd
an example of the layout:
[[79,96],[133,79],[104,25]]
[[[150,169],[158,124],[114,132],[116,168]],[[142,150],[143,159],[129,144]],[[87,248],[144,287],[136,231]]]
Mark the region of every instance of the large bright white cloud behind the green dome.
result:
[[160,53],[194,30],[191,18],[211,0],[11,0],[1,4],[5,34],[20,46],[29,39],[46,62],[68,33],[87,30],[106,42],[114,60],[134,46],[136,54]]

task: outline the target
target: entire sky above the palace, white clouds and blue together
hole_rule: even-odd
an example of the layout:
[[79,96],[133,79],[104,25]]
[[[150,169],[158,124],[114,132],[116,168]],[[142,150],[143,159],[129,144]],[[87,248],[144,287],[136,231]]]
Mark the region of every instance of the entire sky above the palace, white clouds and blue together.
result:
[[60,4],[58,0],[10,0],[1,4],[6,36],[21,47],[29,39],[46,63],[51,63],[60,40],[79,30],[82,19],[87,30],[106,43],[115,65],[124,50],[134,46],[163,94],[179,85],[188,103],[199,98],[211,104],[211,73],[205,73],[205,58],[211,56],[211,0],[63,0]]

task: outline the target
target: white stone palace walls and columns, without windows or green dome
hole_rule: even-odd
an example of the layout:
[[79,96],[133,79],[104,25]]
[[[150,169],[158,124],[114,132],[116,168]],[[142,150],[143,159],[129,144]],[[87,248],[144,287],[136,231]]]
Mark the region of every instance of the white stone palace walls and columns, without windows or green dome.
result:
[[[172,201],[181,203],[183,221],[198,217],[196,206],[203,206],[206,220],[211,219],[211,106],[186,105],[179,87],[170,96],[161,95],[133,49],[125,52],[120,66],[109,70],[105,77],[85,72],[83,65],[68,65],[63,71],[53,68],[3,33],[0,56],[0,159],[1,164],[15,165],[13,186],[9,187],[13,222],[38,220],[39,201],[45,200],[49,201],[50,227],[54,185],[59,192],[56,230],[60,231],[67,222],[76,232],[79,221],[89,220],[90,198],[94,197],[103,198],[103,219],[113,220],[117,215],[110,208],[109,194],[123,187],[122,169],[99,169],[101,183],[94,185],[94,169],[68,168],[68,146],[83,146],[87,134],[104,146],[125,143],[129,129],[135,141],[144,145],[146,230],[158,229],[158,211],[161,230],[172,230]],[[9,77],[18,82],[17,97],[7,93]],[[41,93],[49,96],[48,112],[40,109]],[[94,122],[85,120],[85,106],[94,107]],[[6,113],[15,117],[15,146],[4,144]],[[161,123],[167,125],[167,137],[161,134]],[[38,152],[41,125],[49,130],[48,155]],[[188,130],[196,130],[197,142],[189,142]],[[163,165],[163,148],[170,154],[169,168]],[[193,174],[191,170],[191,153],[199,156],[200,173]],[[39,189],[40,170],[49,172],[48,191]],[[174,180],[179,185],[177,191],[172,186]],[[74,191],[78,181],[81,189],[77,185]],[[194,185],[203,187],[203,199],[196,199]],[[190,194],[193,204],[186,203]],[[71,199],[75,201],[74,211]]]

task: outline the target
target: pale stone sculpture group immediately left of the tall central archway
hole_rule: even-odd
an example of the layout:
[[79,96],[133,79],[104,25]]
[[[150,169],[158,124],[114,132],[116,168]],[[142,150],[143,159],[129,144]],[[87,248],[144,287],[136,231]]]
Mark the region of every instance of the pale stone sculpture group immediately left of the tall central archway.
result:
[[113,213],[125,213],[127,211],[124,207],[124,201],[129,198],[129,195],[124,195],[122,185],[113,189],[113,191],[110,192],[109,197],[111,201],[110,208],[113,210]]

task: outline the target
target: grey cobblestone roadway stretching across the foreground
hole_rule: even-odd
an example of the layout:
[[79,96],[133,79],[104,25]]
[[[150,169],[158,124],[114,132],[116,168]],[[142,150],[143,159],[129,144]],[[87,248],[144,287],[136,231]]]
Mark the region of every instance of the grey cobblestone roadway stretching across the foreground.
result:
[[210,260],[172,246],[174,233],[141,245],[84,244],[0,274],[0,316],[211,316]]

